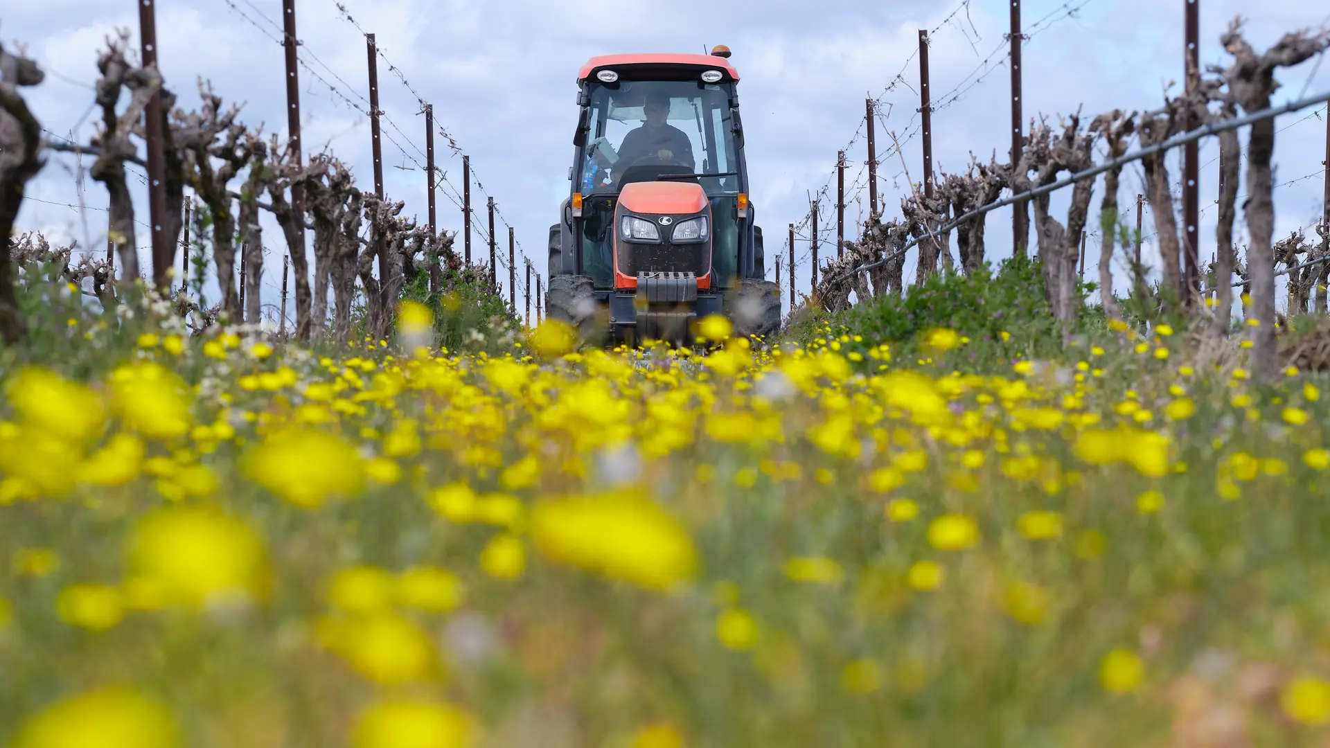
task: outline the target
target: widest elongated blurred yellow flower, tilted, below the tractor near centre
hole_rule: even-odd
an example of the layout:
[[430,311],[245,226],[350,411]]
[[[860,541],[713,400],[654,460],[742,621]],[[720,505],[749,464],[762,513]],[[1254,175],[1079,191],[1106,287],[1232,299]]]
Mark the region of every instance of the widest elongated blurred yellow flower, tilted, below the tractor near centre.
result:
[[670,590],[697,574],[688,530],[645,498],[543,502],[531,512],[531,535],[556,562],[649,590]]

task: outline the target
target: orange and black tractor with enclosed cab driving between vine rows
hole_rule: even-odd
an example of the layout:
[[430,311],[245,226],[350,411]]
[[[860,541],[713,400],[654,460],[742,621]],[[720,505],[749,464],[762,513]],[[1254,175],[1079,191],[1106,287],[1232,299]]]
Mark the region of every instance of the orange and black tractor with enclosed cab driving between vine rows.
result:
[[569,197],[549,228],[545,311],[588,342],[696,342],[722,314],[734,334],[781,325],[749,197],[730,51],[592,57]]

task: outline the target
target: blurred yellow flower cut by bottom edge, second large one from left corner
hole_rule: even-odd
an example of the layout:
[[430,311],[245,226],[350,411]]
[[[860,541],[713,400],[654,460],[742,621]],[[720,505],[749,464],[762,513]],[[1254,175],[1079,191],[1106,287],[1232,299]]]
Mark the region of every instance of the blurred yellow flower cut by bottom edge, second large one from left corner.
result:
[[375,701],[356,716],[355,748],[467,748],[475,719],[452,704],[426,699]]

